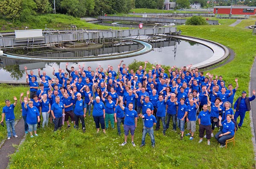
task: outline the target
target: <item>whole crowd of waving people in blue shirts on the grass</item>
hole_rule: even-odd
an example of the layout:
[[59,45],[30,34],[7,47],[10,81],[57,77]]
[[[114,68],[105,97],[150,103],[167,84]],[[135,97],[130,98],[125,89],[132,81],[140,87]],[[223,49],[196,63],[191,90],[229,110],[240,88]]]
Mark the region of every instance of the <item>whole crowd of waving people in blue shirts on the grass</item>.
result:
[[[54,131],[61,129],[65,122],[69,128],[69,117],[75,124],[74,128],[79,129],[81,123],[81,129],[85,132],[84,117],[87,113],[90,116],[92,111],[97,133],[100,128],[106,133],[105,129],[114,129],[114,123],[117,123],[120,136],[120,126],[124,124],[125,141],[121,146],[127,143],[129,131],[131,143],[135,146],[134,131],[140,117],[143,124],[141,147],[145,145],[148,133],[154,148],[154,130],[160,129],[161,120],[163,135],[166,135],[171,118],[172,131],[180,129],[180,139],[184,137],[186,123],[186,129],[189,130],[186,136],[189,136],[189,140],[194,139],[198,119],[199,143],[206,137],[208,145],[210,138],[214,137],[215,126],[221,126],[215,138],[223,147],[225,140],[234,135],[235,123],[232,119],[236,122],[240,116],[238,127],[241,128],[245,112],[250,111],[250,101],[255,99],[255,90],[252,97],[246,97],[244,91],[233,106],[239,87],[238,79],[235,79],[236,87],[233,89],[231,83],[225,84],[221,75],[214,78],[213,74],[207,73],[204,76],[204,72],[199,72],[198,68],[192,70],[192,65],[180,69],[172,66],[168,71],[161,65],[155,65],[146,71],[147,61],[144,68],[139,66],[138,70],[129,69],[122,62],[117,66],[118,72],[110,65],[105,70],[98,66],[95,71],[90,66],[85,70],[84,65],[79,65],[78,70],[73,66],[68,69],[67,63],[67,72],[64,69],[55,72],[53,68],[52,75],[55,78],[49,77],[45,71],[41,74],[41,69],[38,69],[40,82],[32,70],[27,72],[25,66],[29,91],[24,97],[23,93],[20,94],[25,133],[29,132],[34,137],[34,131],[35,136],[38,136],[37,127],[48,126],[49,119],[50,123],[54,123]],[[14,100],[12,105],[10,100],[6,100],[1,120],[3,122],[6,115],[8,139],[11,138],[11,128],[13,136],[17,137],[13,122],[17,98],[14,97]]]

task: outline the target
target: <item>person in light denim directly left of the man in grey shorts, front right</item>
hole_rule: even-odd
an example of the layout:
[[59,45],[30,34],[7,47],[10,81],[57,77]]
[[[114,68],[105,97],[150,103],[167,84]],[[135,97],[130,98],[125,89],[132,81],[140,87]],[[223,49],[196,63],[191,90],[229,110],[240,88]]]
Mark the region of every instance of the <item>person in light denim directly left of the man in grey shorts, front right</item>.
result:
[[183,140],[184,128],[185,128],[185,117],[188,114],[188,108],[185,104],[185,99],[180,98],[180,102],[177,102],[177,97],[175,98],[175,104],[178,107],[177,110],[177,126],[180,129],[180,140]]

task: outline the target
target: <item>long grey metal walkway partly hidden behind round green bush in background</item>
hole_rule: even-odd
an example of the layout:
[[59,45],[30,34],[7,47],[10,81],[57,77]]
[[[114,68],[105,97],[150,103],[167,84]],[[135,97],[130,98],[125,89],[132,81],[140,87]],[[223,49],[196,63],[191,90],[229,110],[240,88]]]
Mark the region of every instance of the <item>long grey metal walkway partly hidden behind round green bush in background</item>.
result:
[[[117,16],[98,16],[99,20],[124,20],[134,22],[148,22],[148,23],[176,23],[185,24],[186,19],[177,18],[159,18],[159,17],[117,17]],[[218,20],[207,20],[209,25],[218,25]]]

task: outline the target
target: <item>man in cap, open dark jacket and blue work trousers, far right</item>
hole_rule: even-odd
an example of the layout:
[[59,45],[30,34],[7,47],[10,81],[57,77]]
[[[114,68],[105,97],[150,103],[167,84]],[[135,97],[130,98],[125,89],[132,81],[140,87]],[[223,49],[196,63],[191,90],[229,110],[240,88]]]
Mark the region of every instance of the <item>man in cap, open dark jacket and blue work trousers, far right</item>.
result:
[[246,94],[245,91],[243,91],[242,92],[242,97],[239,97],[236,100],[236,103],[234,104],[234,112],[235,112],[234,120],[236,120],[237,117],[240,116],[240,122],[238,123],[239,128],[241,128],[241,126],[244,123],[245,113],[247,111],[251,110],[250,101],[255,99],[255,93],[256,93],[255,90],[253,90],[253,96],[252,97],[246,97],[247,94]]

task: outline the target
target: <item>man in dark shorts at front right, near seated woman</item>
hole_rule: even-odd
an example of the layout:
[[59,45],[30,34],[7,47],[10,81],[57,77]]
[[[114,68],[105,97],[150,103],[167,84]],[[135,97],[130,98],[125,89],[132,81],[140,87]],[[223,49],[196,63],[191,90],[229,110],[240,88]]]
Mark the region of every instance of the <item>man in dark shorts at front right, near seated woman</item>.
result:
[[[209,107],[209,109],[208,109]],[[206,132],[207,145],[210,145],[211,139],[211,107],[208,103],[203,106],[203,110],[198,115],[198,124],[199,124],[199,137],[200,140],[198,143],[202,143],[204,137],[204,131]]]

